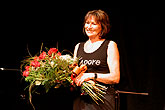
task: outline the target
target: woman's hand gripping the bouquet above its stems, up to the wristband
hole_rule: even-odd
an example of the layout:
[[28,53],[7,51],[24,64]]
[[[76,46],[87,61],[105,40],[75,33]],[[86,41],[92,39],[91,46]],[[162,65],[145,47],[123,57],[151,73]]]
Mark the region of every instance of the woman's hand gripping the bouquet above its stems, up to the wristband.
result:
[[84,81],[89,81],[90,79],[94,79],[94,73],[80,73],[76,77],[75,83],[77,86],[81,86]]

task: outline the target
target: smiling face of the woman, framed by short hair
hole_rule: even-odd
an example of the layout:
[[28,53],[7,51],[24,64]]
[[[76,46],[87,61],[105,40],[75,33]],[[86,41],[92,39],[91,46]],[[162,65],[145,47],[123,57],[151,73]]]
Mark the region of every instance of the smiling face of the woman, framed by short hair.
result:
[[101,24],[98,23],[94,16],[89,17],[84,25],[88,37],[99,37],[101,33]]

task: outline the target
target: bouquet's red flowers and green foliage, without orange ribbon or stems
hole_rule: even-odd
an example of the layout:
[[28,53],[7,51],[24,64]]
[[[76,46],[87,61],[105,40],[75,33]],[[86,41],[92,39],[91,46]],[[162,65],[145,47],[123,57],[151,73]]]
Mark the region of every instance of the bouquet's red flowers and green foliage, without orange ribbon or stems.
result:
[[42,85],[45,91],[50,88],[59,88],[61,85],[69,87],[73,80],[71,74],[74,66],[78,63],[70,55],[61,55],[56,48],[50,48],[48,52],[43,51],[39,56],[30,57],[21,65],[25,81],[29,82],[29,99],[32,104],[32,88]]

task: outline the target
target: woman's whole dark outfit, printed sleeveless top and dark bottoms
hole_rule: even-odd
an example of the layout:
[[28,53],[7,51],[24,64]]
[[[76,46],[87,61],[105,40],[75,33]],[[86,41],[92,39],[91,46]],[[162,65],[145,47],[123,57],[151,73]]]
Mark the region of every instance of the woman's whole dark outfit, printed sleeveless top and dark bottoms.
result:
[[[84,42],[80,43],[77,50],[77,57],[80,57],[79,64],[86,64],[88,73],[110,73],[107,64],[107,49],[109,40],[105,40],[101,46],[92,53],[86,53],[84,51]],[[100,82],[98,82],[100,83]],[[103,84],[103,83],[100,83]],[[104,85],[104,84],[103,84]],[[108,87],[104,103],[97,105],[91,97],[88,95],[77,95],[74,98],[73,110],[115,110],[115,89],[112,85],[105,84]]]

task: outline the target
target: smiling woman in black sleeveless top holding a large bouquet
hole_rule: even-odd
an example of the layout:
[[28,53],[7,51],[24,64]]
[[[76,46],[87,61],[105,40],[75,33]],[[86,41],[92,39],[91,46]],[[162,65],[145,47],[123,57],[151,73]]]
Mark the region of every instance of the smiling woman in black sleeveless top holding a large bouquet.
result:
[[119,51],[114,41],[106,40],[110,30],[108,15],[102,10],[89,11],[84,19],[84,33],[89,40],[75,46],[74,57],[80,57],[80,65],[88,67],[86,73],[79,74],[75,83],[81,86],[84,81],[91,79],[106,85],[104,103],[97,105],[88,95],[77,96],[74,100],[74,110],[114,110],[114,84],[120,80]]

